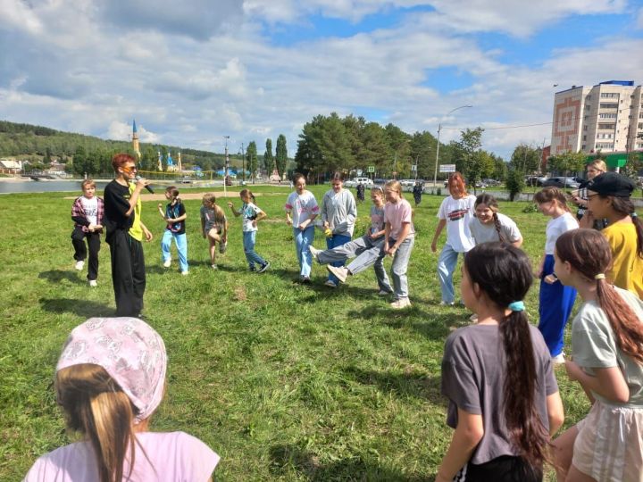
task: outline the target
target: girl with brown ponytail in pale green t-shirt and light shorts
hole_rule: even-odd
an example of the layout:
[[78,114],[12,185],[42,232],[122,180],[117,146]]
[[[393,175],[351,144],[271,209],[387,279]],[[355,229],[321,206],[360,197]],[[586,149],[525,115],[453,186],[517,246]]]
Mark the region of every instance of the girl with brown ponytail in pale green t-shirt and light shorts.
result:
[[594,229],[555,245],[555,273],[583,299],[572,321],[565,368],[593,402],[588,416],[555,440],[558,480],[643,480],[643,302],[605,278],[612,253]]

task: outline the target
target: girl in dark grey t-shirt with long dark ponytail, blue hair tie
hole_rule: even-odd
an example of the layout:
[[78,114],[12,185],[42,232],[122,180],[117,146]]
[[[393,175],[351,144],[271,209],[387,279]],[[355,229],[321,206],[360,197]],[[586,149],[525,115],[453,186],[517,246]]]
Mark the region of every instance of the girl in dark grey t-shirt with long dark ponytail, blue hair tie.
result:
[[437,482],[542,480],[564,414],[547,345],[524,311],[531,282],[513,245],[483,243],[464,258],[462,298],[479,321],[445,345],[442,394],[455,433]]

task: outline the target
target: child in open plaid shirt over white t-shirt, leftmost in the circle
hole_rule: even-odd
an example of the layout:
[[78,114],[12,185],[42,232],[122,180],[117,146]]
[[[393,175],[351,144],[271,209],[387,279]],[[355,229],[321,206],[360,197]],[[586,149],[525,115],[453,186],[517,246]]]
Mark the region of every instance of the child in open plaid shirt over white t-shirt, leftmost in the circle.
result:
[[[83,195],[71,206],[71,220],[74,230],[71,232],[71,245],[74,247],[76,270],[82,270],[88,257],[88,283],[96,287],[98,278],[98,252],[100,251],[100,234],[103,232],[104,203],[96,195],[96,182],[85,179],[82,184]],[[85,247],[87,239],[88,249]]]

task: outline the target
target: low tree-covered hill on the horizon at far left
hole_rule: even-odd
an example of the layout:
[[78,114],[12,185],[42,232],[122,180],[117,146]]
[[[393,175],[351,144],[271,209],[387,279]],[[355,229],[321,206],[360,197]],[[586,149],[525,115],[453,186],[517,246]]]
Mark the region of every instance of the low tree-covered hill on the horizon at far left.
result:
[[[157,159],[158,152],[163,155],[170,152],[176,157],[180,151],[184,162],[200,165],[204,169],[218,169],[223,165],[222,154],[207,151],[146,143],[140,143],[140,149],[147,159]],[[107,155],[119,151],[130,152],[131,143],[0,120],[0,157],[18,157],[32,162],[55,157],[64,162],[79,152]]]

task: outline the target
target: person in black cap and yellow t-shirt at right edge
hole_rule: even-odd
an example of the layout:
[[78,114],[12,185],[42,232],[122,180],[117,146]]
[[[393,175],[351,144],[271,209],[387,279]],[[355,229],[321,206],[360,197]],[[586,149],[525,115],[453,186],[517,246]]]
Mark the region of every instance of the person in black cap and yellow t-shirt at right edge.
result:
[[613,266],[606,274],[616,287],[643,298],[643,222],[639,220],[630,195],[631,179],[605,172],[587,185],[588,209],[595,218],[605,218],[601,232],[612,248]]

